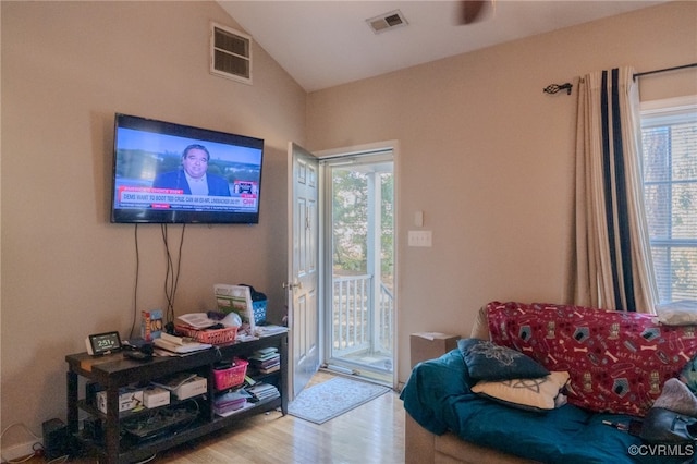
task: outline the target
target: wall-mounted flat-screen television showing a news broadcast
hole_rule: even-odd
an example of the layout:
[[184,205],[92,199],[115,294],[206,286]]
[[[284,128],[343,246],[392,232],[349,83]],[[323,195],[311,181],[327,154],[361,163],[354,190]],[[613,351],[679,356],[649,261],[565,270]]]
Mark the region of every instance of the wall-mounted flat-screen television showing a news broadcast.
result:
[[115,115],[111,222],[258,223],[264,141]]

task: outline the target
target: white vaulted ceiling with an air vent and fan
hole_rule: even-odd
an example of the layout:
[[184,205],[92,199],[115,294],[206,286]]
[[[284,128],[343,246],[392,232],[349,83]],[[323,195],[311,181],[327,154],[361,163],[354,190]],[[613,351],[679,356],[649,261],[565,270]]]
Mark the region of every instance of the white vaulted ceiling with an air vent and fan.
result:
[[[222,8],[306,90],[652,7],[664,0],[489,0],[462,24],[462,1],[227,1]],[[399,11],[406,25],[367,20]]]

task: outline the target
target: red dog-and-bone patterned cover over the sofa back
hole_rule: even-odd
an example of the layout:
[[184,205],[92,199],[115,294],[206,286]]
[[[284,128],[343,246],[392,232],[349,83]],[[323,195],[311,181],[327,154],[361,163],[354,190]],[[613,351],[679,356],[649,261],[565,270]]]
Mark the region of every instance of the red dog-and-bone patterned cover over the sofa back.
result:
[[648,314],[492,302],[487,317],[492,342],[568,371],[568,402],[596,412],[644,416],[697,353],[697,326]]

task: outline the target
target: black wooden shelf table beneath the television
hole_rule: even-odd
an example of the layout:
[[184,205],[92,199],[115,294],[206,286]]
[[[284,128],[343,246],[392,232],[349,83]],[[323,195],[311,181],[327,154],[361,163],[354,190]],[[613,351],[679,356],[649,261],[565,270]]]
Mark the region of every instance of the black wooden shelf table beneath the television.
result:
[[[233,357],[246,358],[257,350],[276,347],[281,356],[280,370],[257,377],[266,382],[273,383],[280,396],[261,400],[252,407],[228,415],[218,416],[213,413],[212,399],[217,392],[213,386],[213,366],[221,359]],[[210,350],[188,354],[186,356],[154,357],[151,361],[140,362],[123,357],[120,353],[101,357],[93,357],[87,353],[77,353],[65,356],[69,369],[68,382],[68,428],[75,438],[75,448],[86,453],[96,454],[100,462],[129,463],[147,459],[152,454],[225,428],[234,423],[244,420],[256,414],[280,410],[288,413],[288,333],[278,333],[249,342],[236,342],[225,345],[216,345]],[[136,440],[135,438],[122,439],[121,422],[137,417],[139,414],[158,411],[172,405],[182,405],[191,400],[176,401],[172,404],[159,406],[145,412],[119,413],[119,389],[136,383],[146,383],[158,378],[172,376],[183,371],[195,371],[207,379],[207,393],[196,396],[200,410],[196,419],[179,430],[168,432],[166,436]],[[78,391],[78,378],[98,382],[107,391],[107,413],[99,411],[96,405],[88,404],[86,393],[81,398]],[[173,399],[172,399],[173,400]],[[81,430],[80,411],[87,414],[90,420],[97,420],[102,425],[101,437],[94,439]]]

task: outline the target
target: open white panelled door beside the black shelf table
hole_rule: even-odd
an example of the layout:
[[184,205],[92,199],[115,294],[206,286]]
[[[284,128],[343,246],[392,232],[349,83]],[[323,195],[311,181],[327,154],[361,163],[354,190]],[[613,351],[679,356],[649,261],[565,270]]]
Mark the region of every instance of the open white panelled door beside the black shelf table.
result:
[[289,144],[289,328],[293,400],[319,369],[319,162]]

